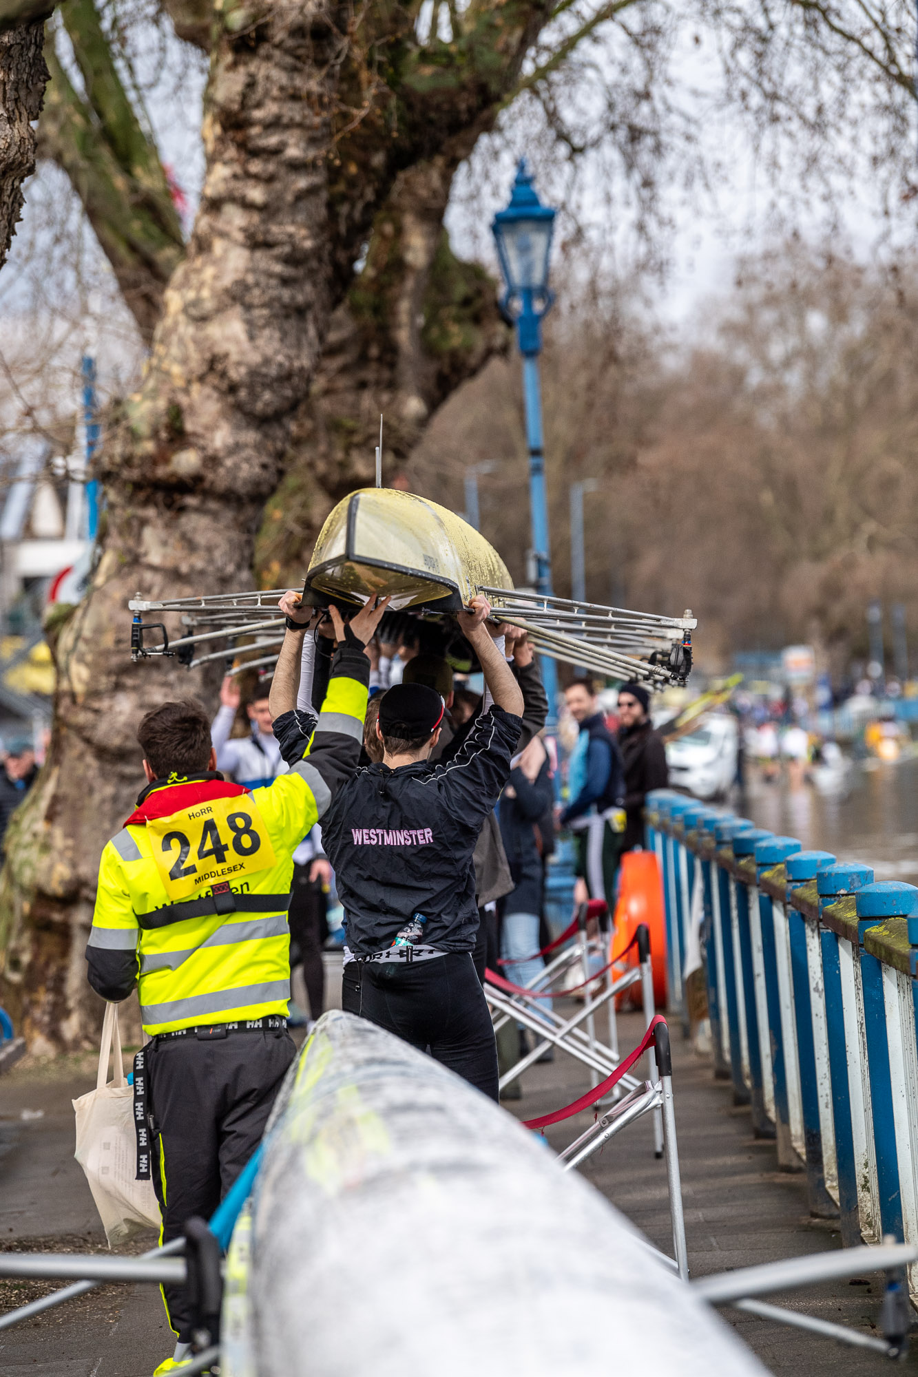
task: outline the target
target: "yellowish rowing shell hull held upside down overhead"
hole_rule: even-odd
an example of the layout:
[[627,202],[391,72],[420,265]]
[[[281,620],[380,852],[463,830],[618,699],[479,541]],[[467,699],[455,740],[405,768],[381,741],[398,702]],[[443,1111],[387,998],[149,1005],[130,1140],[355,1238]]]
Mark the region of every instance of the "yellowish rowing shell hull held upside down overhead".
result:
[[474,526],[415,493],[361,487],[323,526],[303,592],[320,603],[391,596],[394,609],[458,611],[482,587],[513,582]]

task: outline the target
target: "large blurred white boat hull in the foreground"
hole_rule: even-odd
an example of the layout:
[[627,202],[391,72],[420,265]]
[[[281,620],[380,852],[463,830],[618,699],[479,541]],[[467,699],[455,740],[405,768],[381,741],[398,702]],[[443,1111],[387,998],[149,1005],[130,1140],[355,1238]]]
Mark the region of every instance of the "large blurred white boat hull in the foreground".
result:
[[338,1011],[265,1135],[222,1341],[223,1377],[765,1377],[540,1139]]

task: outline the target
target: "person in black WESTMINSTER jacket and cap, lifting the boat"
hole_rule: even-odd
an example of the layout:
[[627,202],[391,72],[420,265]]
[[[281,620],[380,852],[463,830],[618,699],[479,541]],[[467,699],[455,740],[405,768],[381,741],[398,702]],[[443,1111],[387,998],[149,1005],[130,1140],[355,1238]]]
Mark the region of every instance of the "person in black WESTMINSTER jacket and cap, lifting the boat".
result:
[[[291,599],[288,616],[296,616],[294,606]],[[442,697],[426,684],[389,688],[376,724],[382,763],[357,770],[339,789],[323,818],[323,844],[360,964],[363,1018],[419,1051],[430,1048],[496,1100],[493,1026],[471,960],[478,931],[473,856],[481,823],[510,778],[522,693],[488,633],[489,613],[478,595],[458,614],[493,698],[462,749],[448,764],[431,763]]]

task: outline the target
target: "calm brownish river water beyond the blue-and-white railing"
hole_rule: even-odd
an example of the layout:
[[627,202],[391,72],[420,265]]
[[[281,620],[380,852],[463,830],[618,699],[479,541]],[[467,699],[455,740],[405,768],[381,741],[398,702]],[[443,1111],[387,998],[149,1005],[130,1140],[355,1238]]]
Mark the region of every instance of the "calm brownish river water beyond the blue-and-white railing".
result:
[[918,759],[853,764],[844,779],[791,789],[750,771],[731,807],[761,828],[798,837],[839,861],[863,861],[877,880],[918,884]]

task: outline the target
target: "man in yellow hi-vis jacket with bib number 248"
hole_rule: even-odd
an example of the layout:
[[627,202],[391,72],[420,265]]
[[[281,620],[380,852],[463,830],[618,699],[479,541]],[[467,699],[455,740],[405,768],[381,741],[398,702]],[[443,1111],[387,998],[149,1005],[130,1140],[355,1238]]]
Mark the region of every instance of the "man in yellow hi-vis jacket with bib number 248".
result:
[[[103,1000],[125,1000],[136,986],[152,1040],[134,1073],[138,1177],[152,1176],[163,1242],[192,1216],[214,1213],[255,1151],[294,1058],[292,851],[357,767],[364,644],[385,606],[363,609],[347,628],[332,610],[339,650],[317,723],[295,708],[306,624],[288,622],[270,712],[278,739],[294,737],[299,749],[289,772],[256,793],[216,772],[200,704],[164,702],[138,728],[147,786],[102,851],[85,954]],[[194,1319],[183,1286],[163,1294],[178,1343],[160,1374],[190,1362]]]

